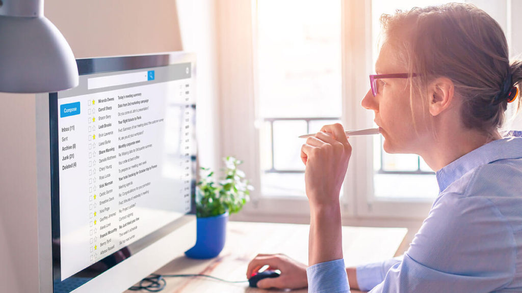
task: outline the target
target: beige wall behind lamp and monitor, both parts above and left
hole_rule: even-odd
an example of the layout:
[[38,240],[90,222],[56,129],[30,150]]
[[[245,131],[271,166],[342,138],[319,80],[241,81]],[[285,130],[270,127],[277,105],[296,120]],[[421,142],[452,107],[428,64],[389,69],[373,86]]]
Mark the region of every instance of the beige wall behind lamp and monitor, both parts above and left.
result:
[[[46,0],[44,15],[62,31],[76,58],[182,49],[173,0]],[[3,292],[39,290],[38,265],[34,265],[38,259],[34,97],[0,93]]]

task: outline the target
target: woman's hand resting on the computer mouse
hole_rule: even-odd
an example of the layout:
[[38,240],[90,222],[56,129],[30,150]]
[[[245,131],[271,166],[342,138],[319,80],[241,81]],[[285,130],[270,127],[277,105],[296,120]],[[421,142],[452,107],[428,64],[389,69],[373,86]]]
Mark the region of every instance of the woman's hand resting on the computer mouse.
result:
[[248,264],[246,277],[257,273],[260,268],[268,265],[267,270],[279,270],[281,275],[277,278],[264,278],[257,282],[259,288],[299,289],[308,286],[306,278],[306,265],[292,260],[284,254],[257,254]]

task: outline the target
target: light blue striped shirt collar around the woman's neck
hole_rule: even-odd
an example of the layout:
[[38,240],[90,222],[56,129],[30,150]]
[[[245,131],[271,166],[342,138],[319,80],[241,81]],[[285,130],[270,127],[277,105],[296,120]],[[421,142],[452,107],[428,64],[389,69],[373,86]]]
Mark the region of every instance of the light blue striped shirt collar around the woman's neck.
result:
[[482,145],[438,170],[440,192],[470,170],[498,160],[522,157],[522,131],[510,131],[507,136]]

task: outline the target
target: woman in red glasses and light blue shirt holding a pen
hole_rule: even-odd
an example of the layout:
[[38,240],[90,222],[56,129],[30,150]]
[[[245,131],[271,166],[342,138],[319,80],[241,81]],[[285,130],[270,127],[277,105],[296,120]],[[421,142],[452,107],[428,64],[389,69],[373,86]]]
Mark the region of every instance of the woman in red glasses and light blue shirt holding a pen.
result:
[[[309,267],[258,255],[281,276],[259,287],[309,292],[522,292],[522,138],[502,137],[522,62],[509,63],[499,24],[467,4],[383,15],[384,42],[362,106],[389,153],[414,153],[436,171],[440,194],[402,260],[345,270],[339,190],[351,155],[340,125],[302,146],[310,202]],[[412,131],[414,130],[414,131]],[[347,277],[348,276],[348,277]],[[307,280],[306,280],[307,277]]]

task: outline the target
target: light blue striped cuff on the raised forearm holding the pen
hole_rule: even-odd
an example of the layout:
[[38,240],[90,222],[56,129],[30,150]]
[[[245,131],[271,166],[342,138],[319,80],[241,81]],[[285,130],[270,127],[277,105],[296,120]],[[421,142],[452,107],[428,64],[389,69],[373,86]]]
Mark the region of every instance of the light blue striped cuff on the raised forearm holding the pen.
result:
[[309,293],[350,293],[345,260],[314,264],[306,268]]

